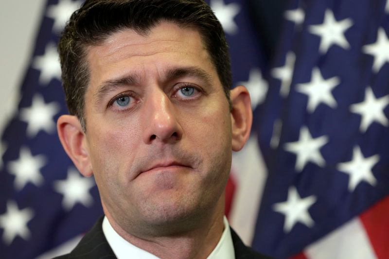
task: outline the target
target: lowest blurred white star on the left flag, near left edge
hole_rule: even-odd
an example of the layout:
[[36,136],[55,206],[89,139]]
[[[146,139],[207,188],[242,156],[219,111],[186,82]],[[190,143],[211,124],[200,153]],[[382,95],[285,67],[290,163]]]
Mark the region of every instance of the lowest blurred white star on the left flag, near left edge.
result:
[[7,201],[7,211],[0,215],[0,227],[3,231],[3,241],[10,245],[19,236],[27,240],[31,233],[27,223],[33,218],[34,212],[31,208],[18,209],[14,201]]

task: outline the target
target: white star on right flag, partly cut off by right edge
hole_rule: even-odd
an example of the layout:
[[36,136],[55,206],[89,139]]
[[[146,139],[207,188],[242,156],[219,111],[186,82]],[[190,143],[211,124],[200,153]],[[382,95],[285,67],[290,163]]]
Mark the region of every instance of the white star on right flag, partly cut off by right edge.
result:
[[363,46],[362,51],[374,57],[372,69],[375,73],[389,61],[389,39],[382,27],[378,28],[377,41]]

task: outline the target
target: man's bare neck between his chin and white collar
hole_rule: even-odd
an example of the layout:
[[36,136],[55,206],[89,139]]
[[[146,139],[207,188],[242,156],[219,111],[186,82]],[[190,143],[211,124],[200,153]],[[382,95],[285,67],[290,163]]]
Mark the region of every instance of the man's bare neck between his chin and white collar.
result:
[[213,213],[204,217],[202,224],[198,224],[199,227],[175,235],[140,238],[125,231],[106,208],[104,210],[109,223],[121,237],[161,259],[206,259],[216,247],[224,230],[224,194],[221,196]]

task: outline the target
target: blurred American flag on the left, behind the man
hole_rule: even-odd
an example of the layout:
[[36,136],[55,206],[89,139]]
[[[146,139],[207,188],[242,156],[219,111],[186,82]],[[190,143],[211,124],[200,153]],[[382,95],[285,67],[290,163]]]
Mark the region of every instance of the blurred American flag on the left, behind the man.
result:
[[[93,178],[77,172],[55,122],[68,113],[56,42],[80,1],[48,0],[19,90],[18,112],[2,133],[0,258],[39,258],[71,249],[103,213]],[[61,253],[61,252],[59,252]],[[40,258],[51,258],[49,252]]]

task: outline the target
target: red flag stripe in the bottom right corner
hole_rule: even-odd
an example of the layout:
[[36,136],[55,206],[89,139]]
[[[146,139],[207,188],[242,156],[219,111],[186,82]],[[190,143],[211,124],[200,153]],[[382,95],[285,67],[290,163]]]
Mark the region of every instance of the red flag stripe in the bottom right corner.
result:
[[389,258],[389,196],[360,215],[378,259]]

